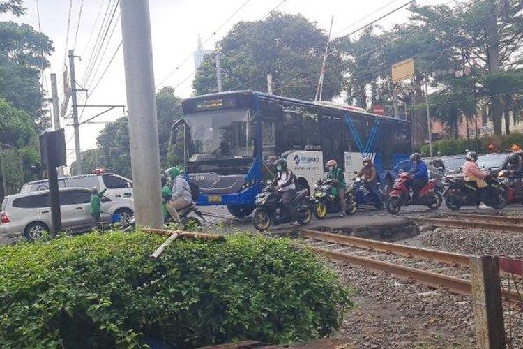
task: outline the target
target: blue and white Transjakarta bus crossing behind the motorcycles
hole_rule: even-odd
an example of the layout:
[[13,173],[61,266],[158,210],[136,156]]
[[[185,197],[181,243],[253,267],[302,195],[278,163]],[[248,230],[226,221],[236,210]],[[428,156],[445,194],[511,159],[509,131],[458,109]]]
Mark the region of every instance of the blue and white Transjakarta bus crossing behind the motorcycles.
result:
[[255,91],[197,96],[182,105],[184,119],[173,132],[183,135],[185,171],[202,192],[197,204],[226,205],[234,216],[252,212],[281,156],[296,174],[296,186],[310,189],[329,159],[349,181],[363,156],[374,158],[381,181],[391,184],[395,164],[411,153],[408,121],[348,105]]

